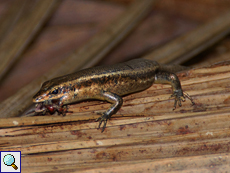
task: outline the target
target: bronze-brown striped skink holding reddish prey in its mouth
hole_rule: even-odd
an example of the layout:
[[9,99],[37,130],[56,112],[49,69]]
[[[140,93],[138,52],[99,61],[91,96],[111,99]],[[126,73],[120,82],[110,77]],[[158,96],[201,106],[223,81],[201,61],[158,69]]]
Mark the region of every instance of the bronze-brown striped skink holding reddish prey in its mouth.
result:
[[65,115],[68,104],[88,99],[104,100],[111,106],[96,120],[99,121],[98,128],[104,123],[103,132],[108,119],[121,108],[121,96],[145,90],[154,83],[172,86],[174,109],[177,104],[181,106],[185,97],[194,104],[190,96],[183,92],[177,75],[173,73],[180,70],[181,66],[165,66],[146,59],[80,70],[44,82],[33,97],[35,112],[45,114],[48,111],[52,114],[57,111]]

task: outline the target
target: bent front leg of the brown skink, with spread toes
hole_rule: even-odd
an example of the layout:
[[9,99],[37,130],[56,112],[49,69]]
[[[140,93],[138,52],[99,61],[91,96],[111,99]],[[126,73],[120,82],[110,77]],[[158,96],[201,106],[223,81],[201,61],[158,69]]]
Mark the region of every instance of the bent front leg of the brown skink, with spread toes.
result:
[[110,117],[113,114],[117,113],[117,111],[121,108],[123,104],[123,99],[120,96],[108,91],[102,91],[100,97],[100,100],[105,100],[107,102],[112,103],[109,109],[103,112],[101,117],[96,119],[96,121],[100,120],[98,129],[100,128],[101,124],[104,123],[101,130],[101,132],[103,132],[105,130],[108,119],[110,119]]

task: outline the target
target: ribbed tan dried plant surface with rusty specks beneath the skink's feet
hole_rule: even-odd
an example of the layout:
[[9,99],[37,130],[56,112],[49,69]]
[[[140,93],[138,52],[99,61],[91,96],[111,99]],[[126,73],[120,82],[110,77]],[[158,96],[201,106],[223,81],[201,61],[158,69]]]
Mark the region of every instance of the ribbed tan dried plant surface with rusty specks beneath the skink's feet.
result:
[[195,106],[186,100],[172,111],[167,85],[126,96],[104,133],[94,119],[109,105],[98,101],[71,105],[74,113],[66,117],[3,118],[0,149],[22,151],[25,172],[135,172],[137,165],[139,171],[227,170],[229,67],[224,62],[178,74]]

